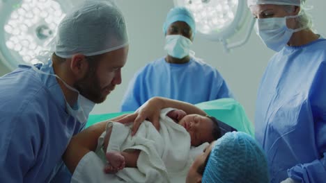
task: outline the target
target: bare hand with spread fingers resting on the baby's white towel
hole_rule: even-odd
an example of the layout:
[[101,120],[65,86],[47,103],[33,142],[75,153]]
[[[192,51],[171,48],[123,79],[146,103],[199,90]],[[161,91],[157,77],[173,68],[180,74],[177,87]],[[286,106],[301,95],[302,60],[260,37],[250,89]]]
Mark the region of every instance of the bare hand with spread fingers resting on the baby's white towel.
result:
[[160,98],[150,98],[146,103],[141,105],[136,112],[129,114],[122,119],[119,119],[120,123],[134,123],[132,127],[132,135],[136,134],[139,126],[145,120],[150,121],[155,126],[156,130],[160,130],[160,111],[164,106],[164,101]]

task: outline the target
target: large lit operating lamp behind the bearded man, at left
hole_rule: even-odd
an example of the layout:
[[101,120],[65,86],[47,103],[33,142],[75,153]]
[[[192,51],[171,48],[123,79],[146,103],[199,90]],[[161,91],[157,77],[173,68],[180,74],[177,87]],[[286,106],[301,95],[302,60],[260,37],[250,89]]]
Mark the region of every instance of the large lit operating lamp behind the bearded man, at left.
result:
[[35,56],[53,40],[65,10],[71,8],[62,3],[65,6],[54,0],[0,0],[0,60],[9,69],[40,62]]

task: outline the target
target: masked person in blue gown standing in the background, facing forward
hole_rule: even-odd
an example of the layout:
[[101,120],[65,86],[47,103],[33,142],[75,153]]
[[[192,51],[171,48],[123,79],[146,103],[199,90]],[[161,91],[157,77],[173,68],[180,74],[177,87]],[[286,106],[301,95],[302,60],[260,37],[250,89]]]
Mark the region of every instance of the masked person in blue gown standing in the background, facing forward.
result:
[[168,54],[137,71],[125,92],[121,111],[135,111],[154,96],[192,104],[233,97],[219,71],[189,50],[196,25],[187,8],[172,8],[163,32]]

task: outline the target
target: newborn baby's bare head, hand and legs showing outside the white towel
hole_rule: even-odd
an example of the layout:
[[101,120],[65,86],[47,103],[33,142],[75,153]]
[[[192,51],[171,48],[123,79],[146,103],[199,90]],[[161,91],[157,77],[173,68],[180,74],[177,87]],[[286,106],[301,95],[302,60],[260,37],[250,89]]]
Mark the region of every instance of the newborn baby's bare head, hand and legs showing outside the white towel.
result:
[[[183,110],[171,110],[166,114],[173,121],[183,126],[190,136],[191,146],[199,146],[205,142],[212,142],[221,137],[218,120],[212,116],[201,116],[199,114],[186,114]],[[161,122],[160,122],[161,123]],[[103,150],[106,152],[111,137],[112,126],[107,128],[104,136]],[[116,173],[125,167],[137,168],[137,159],[140,150],[126,150],[123,152],[107,152],[109,164],[105,167],[105,172]]]

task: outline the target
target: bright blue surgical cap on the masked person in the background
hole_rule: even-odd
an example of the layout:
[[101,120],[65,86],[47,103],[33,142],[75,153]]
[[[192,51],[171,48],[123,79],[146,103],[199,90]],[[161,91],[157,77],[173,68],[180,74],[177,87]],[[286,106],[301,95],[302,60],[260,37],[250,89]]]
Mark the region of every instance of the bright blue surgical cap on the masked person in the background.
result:
[[192,28],[192,37],[196,34],[196,24],[194,21],[194,16],[192,15],[192,12],[190,12],[185,7],[176,7],[172,8],[168,15],[166,16],[166,20],[163,24],[163,32],[166,34],[167,29],[171,24],[173,24],[176,21],[184,21],[188,24],[190,28]]

